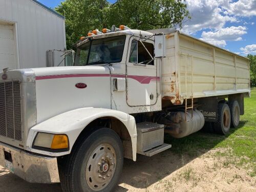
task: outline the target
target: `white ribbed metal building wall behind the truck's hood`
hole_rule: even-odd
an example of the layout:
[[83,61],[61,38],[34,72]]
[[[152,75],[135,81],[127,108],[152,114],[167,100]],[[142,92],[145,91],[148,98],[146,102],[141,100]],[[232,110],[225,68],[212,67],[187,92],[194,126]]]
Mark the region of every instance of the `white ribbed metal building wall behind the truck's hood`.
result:
[[[65,19],[36,1],[0,0],[0,23],[5,22],[14,25],[17,68],[46,67],[46,51],[66,47]],[[56,65],[60,60],[55,56]]]

